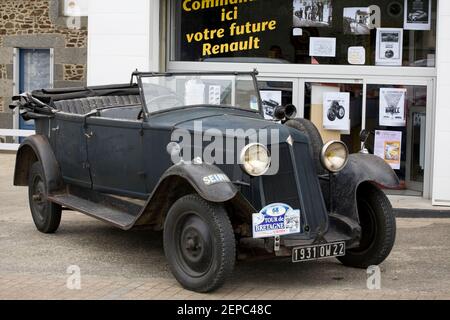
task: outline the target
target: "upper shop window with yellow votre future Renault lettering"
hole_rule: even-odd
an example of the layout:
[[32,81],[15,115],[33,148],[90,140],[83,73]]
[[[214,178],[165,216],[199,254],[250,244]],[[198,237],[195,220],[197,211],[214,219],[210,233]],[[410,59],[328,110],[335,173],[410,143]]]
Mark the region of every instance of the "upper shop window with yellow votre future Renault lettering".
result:
[[173,61],[434,67],[436,0],[172,1]]

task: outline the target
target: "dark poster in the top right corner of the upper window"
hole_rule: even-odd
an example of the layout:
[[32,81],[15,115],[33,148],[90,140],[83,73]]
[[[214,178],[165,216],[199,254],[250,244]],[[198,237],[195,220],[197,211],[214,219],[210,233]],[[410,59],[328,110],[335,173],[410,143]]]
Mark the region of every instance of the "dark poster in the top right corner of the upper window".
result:
[[431,30],[431,0],[405,0],[405,30]]

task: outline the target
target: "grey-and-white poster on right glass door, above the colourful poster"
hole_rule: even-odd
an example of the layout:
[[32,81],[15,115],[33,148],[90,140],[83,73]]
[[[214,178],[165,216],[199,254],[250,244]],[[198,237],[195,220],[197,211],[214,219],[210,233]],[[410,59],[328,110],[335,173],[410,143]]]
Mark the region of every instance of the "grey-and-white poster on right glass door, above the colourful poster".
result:
[[406,126],[406,89],[380,88],[380,126]]

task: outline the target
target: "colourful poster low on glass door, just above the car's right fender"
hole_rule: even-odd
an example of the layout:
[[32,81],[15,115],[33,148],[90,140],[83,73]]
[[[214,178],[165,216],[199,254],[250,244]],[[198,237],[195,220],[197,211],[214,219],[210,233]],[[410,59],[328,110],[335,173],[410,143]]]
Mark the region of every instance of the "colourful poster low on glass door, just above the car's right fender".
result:
[[402,157],[402,132],[375,131],[374,154],[388,163],[392,169],[400,170]]

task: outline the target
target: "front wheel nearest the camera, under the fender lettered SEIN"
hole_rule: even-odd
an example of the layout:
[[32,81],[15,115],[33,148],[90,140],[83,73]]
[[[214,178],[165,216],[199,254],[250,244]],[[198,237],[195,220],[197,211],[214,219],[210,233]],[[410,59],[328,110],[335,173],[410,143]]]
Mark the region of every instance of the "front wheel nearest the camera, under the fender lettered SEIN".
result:
[[233,228],[223,205],[196,194],[177,200],[166,217],[164,252],[184,288],[204,293],[222,286],[236,259]]

